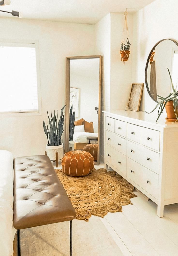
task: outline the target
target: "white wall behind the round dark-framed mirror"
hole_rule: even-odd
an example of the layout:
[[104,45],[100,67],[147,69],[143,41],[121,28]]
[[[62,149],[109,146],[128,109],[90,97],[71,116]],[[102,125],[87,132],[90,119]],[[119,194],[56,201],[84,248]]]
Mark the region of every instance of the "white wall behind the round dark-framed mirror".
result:
[[[156,0],[133,14],[132,82],[145,84],[145,65],[152,47],[161,39],[178,41],[178,1]],[[142,111],[150,111],[155,102],[149,97],[144,86],[141,101]]]

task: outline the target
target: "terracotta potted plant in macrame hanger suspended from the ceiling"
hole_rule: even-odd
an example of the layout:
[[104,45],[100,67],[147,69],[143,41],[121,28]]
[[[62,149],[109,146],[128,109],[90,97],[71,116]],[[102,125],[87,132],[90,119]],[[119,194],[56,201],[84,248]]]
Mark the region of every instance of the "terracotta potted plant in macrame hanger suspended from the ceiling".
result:
[[[127,10],[127,9],[126,9]],[[129,59],[130,54],[130,40],[129,40],[129,32],[128,32],[128,26],[127,26],[127,12],[124,12],[124,29],[123,29],[123,35],[122,35],[122,41],[121,41],[121,61],[125,62]],[[126,38],[126,39],[125,39]]]

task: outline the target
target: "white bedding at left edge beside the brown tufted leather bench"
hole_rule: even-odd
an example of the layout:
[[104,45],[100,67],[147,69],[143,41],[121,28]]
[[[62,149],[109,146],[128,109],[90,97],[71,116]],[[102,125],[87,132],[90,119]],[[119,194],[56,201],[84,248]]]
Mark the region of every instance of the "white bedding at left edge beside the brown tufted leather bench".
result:
[[0,255],[13,255],[16,229],[13,227],[13,157],[0,150]]

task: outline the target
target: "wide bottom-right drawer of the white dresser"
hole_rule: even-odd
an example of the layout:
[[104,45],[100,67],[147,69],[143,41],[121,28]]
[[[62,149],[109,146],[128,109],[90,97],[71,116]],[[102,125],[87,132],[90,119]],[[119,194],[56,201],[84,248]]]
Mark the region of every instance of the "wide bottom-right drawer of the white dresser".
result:
[[127,157],[127,177],[150,195],[158,198],[159,175]]

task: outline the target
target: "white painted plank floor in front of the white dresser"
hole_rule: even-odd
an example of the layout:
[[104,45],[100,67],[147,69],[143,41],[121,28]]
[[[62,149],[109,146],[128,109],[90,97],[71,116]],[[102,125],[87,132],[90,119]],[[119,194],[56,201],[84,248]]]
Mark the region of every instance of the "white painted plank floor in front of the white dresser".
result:
[[164,217],[159,218],[157,205],[134,192],[137,197],[131,199],[133,205],[123,206],[122,212],[108,213],[101,219],[123,254],[178,256],[178,204],[165,206]]

